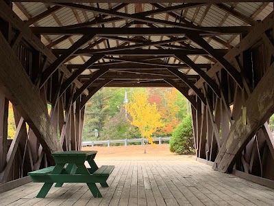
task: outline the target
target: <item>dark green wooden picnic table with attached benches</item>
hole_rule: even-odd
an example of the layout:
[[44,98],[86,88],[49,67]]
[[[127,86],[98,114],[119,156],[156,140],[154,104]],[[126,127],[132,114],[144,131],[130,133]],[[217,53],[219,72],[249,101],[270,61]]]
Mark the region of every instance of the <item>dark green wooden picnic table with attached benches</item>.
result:
[[[95,183],[108,187],[106,182],[114,165],[103,165],[98,168],[94,159],[97,151],[66,151],[52,154],[55,166],[28,172],[34,183],[44,183],[36,197],[45,198],[53,183],[62,187],[63,183],[86,183],[94,197],[102,197]],[[90,168],[86,168],[88,161]]]

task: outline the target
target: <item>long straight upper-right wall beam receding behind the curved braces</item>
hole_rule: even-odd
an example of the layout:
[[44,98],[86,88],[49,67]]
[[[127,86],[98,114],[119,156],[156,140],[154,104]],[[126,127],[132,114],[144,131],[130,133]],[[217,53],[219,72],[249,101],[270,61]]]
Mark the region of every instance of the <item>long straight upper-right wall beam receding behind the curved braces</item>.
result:
[[[247,34],[247,36],[245,36],[245,38],[243,38],[240,41],[240,43],[238,43],[238,45],[230,49],[229,52],[225,54],[224,58],[227,61],[232,62],[236,56],[240,55],[242,52],[249,49],[249,47],[254,45],[254,43],[259,41],[260,38],[262,38],[262,34],[264,34],[266,30],[269,30],[271,27],[273,27],[274,25],[273,19],[274,19],[274,12],[271,12],[269,16],[266,16],[266,18],[263,21],[253,26],[251,32],[249,32],[249,34]],[[212,78],[214,77],[214,74],[220,71],[222,68],[223,67],[221,64],[215,64],[209,71],[207,71],[207,74],[208,76]],[[203,79],[198,80],[197,83],[195,84],[196,87],[201,88],[203,86],[203,82],[204,82]],[[189,95],[192,95],[193,91],[191,91],[190,89],[188,93]]]

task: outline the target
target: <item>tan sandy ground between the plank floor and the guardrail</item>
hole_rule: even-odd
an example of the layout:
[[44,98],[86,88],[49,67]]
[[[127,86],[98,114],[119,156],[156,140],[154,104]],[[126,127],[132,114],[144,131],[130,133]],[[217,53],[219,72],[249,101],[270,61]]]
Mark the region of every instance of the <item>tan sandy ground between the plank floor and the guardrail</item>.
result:
[[147,145],[147,153],[144,153],[144,147],[140,145],[83,147],[82,150],[97,150],[96,159],[102,160],[195,160],[195,155],[176,155],[170,152],[169,144]]

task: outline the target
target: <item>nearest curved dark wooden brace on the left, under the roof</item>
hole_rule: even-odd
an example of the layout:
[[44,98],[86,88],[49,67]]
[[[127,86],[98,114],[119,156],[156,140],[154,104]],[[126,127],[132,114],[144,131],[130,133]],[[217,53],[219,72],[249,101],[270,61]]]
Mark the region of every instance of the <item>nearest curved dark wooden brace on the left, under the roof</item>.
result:
[[95,37],[95,34],[88,34],[86,36],[82,36],[77,42],[75,42],[69,49],[67,49],[67,52],[65,54],[62,54],[57,60],[55,60],[45,71],[42,73],[41,81],[40,81],[40,87],[47,82],[49,77],[62,65],[62,63],[69,58],[71,55],[73,55],[79,47],[82,47],[84,44],[86,44],[90,39]]

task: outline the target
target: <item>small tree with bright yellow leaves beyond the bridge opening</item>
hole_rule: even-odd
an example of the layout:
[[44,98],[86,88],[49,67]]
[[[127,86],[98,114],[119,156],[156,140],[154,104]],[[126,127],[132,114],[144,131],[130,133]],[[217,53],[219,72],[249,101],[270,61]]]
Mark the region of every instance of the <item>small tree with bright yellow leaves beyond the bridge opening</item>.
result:
[[129,122],[137,126],[142,137],[146,137],[149,143],[153,144],[151,135],[163,124],[156,104],[150,104],[147,99],[147,93],[138,91],[132,95],[132,101],[125,105],[125,108],[132,117]]

